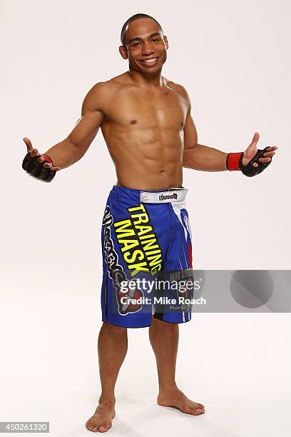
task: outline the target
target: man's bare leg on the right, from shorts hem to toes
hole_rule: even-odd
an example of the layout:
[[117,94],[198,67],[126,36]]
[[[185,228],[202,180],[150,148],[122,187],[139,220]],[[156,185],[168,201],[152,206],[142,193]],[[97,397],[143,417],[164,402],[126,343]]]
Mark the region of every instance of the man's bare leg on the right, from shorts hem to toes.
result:
[[153,317],[148,332],[158,369],[158,404],[172,406],[183,411],[183,413],[193,414],[194,416],[203,414],[204,406],[202,403],[188,399],[175,383],[175,365],[179,341],[178,323],[168,323]]

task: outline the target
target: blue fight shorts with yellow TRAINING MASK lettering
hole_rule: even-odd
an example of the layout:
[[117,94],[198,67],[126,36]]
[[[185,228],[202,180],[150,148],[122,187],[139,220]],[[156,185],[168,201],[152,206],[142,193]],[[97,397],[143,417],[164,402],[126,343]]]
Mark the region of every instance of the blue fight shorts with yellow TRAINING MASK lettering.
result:
[[[192,306],[180,304],[180,290],[172,290],[169,281],[163,282],[168,289],[165,285],[161,290],[156,282],[169,276],[180,280],[192,268],[187,191],[113,186],[102,223],[102,321],[125,328],[150,326],[152,317],[169,323],[190,321]],[[138,278],[143,279],[136,286]]]

